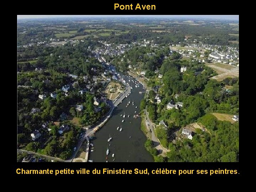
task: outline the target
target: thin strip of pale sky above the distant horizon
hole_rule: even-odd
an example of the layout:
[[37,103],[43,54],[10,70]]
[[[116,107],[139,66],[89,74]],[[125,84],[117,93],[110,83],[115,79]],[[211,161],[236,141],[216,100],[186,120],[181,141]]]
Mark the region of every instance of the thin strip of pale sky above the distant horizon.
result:
[[165,17],[165,18],[215,18],[227,20],[239,20],[239,15],[17,15],[17,18],[61,18],[61,17]]

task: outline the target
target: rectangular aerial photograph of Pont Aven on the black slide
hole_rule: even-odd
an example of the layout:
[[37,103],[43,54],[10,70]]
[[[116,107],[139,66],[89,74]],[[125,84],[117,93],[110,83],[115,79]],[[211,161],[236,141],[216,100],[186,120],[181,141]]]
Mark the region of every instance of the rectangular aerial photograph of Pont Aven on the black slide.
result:
[[239,15],[17,15],[17,162],[239,162]]

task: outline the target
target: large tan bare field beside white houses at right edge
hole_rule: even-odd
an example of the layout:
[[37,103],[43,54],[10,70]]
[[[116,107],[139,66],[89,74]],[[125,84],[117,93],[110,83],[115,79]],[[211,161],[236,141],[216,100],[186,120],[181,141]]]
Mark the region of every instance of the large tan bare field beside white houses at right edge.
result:
[[207,64],[207,66],[213,68],[218,73],[218,75],[212,77],[212,79],[216,79],[217,81],[222,81],[227,77],[239,77],[239,67],[237,66],[222,63],[211,63]]

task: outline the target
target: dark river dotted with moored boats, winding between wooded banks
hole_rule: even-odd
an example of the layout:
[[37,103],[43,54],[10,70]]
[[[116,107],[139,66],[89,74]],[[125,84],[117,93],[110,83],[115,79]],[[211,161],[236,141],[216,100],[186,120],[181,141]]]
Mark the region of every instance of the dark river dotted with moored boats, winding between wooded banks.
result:
[[[124,98],[122,103],[115,108],[108,122],[95,133],[96,138],[90,141],[94,145],[92,148],[94,151],[90,152],[89,159],[94,162],[106,162],[107,157],[108,162],[113,162],[113,159],[114,162],[153,162],[153,157],[144,147],[146,136],[140,130],[141,118],[133,117],[135,114],[139,114],[140,101],[145,94],[139,94],[139,92],[145,90],[142,84],[139,84],[140,87],[135,87],[135,83],[132,82],[132,79],[135,80],[134,78],[126,76],[123,78],[133,87],[132,93]],[[126,107],[128,101],[130,104]],[[134,105],[132,105],[132,101],[134,101]],[[137,108],[135,108],[136,106]],[[135,113],[135,111],[137,112]],[[125,118],[123,118],[124,113]],[[122,131],[117,130],[117,127],[121,127]],[[112,140],[107,142],[109,137],[112,137]],[[106,155],[107,148],[109,149],[108,156]],[[113,153],[114,158],[112,158]]]

